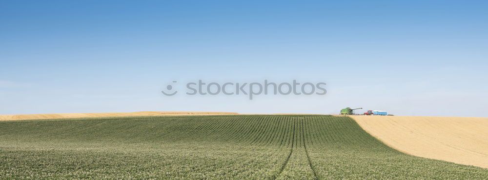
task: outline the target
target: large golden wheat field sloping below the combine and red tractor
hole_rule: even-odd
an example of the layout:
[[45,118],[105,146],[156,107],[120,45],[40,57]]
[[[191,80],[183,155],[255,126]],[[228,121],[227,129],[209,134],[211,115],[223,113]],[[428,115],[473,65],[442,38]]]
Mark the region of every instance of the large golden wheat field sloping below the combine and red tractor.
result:
[[488,118],[350,116],[404,153],[488,168]]

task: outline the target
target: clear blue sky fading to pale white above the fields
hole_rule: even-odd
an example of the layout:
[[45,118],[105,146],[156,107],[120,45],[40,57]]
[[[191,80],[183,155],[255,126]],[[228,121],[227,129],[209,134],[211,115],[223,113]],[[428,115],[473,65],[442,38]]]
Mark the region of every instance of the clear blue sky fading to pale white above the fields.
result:
[[[487,117],[486,0],[12,0],[0,8],[0,114],[349,106]],[[326,82],[327,94],[161,93],[172,80],[199,79]]]

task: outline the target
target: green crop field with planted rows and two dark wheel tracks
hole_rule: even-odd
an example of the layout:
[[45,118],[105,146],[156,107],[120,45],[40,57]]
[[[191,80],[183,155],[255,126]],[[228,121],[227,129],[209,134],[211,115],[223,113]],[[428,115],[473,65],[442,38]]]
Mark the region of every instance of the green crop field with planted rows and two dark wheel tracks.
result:
[[403,154],[347,117],[234,115],[0,122],[1,180],[486,180]]

